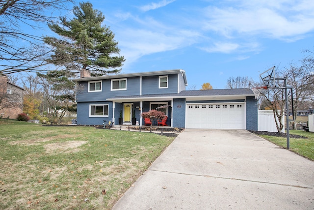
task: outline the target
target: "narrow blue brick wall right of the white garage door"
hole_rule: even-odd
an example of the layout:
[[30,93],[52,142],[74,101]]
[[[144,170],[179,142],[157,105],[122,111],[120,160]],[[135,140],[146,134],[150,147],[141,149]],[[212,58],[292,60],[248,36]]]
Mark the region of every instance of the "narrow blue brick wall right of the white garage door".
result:
[[246,129],[258,130],[258,105],[253,96],[246,97]]

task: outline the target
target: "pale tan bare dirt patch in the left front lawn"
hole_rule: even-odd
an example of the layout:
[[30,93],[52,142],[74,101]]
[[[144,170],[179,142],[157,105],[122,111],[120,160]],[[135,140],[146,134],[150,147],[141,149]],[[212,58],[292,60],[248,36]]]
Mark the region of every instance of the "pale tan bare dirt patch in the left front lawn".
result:
[[57,142],[48,145],[44,145],[47,153],[52,152],[77,152],[79,151],[78,147],[86,144],[86,141],[72,141],[72,142]]

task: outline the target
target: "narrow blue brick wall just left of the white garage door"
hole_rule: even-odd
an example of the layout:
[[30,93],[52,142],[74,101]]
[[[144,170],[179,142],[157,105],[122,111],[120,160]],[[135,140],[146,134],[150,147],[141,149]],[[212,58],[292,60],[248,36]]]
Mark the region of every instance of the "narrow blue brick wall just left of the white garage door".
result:
[[185,99],[173,99],[173,127],[185,127]]

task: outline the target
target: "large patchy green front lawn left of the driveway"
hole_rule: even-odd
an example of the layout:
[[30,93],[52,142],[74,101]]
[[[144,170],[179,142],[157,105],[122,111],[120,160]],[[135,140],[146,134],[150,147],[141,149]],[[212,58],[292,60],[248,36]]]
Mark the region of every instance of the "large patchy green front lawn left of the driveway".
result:
[[0,209],[111,209],[173,140],[0,119]]

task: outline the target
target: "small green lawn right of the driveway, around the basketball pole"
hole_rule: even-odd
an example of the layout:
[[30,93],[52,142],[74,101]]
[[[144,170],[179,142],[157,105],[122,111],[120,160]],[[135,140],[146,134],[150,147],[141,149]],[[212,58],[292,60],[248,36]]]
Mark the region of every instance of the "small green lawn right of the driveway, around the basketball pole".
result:
[[[314,160],[314,133],[305,132],[302,130],[290,130],[290,134],[296,134],[299,136],[306,136],[308,139],[294,139],[290,138],[289,146],[290,150],[294,151],[302,156],[305,156],[311,160]],[[260,135],[262,138],[280,146],[287,148],[287,138]]]

